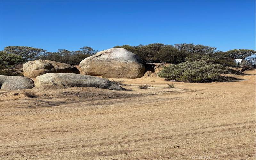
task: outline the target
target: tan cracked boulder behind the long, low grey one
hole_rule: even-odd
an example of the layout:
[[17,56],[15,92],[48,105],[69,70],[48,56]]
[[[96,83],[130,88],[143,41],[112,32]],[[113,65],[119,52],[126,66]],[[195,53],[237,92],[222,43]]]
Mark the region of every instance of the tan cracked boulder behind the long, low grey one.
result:
[[25,77],[35,78],[45,73],[79,73],[79,70],[70,64],[51,60],[34,60],[23,64]]

